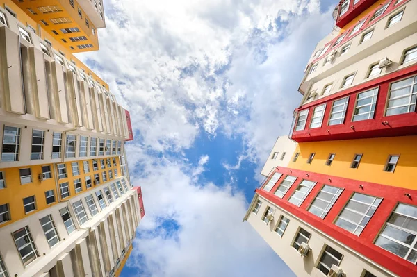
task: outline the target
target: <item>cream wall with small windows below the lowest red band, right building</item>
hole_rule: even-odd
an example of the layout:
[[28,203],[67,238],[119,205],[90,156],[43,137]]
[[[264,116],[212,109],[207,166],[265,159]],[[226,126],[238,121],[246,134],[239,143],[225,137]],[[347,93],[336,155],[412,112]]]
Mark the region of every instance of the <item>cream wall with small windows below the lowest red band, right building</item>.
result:
[[[348,249],[347,246],[310,228],[310,226],[304,224],[300,219],[297,219],[263,197],[255,194],[252,203],[256,203],[258,199],[262,201],[261,208],[259,208],[259,211],[256,214],[251,211],[247,217],[247,221],[298,277],[325,276],[325,274],[316,267],[320,260],[320,255],[326,245],[343,254],[339,267],[343,269],[346,276],[362,276],[363,269],[366,269],[375,276],[396,276],[395,274],[384,271],[382,268],[372,265],[370,262],[361,258],[358,253]],[[270,221],[269,224],[265,224],[265,222],[262,221],[262,216],[268,206],[275,209],[274,219]],[[253,209],[253,206],[250,206],[250,209]],[[284,217],[288,218],[290,221],[284,231],[284,235],[279,237],[275,232],[275,228],[281,215],[284,215]],[[300,228],[303,228],[311,234],[308,242],[311,250],[309,255],[305,258],[302,258],[300,253],[291,246]]]

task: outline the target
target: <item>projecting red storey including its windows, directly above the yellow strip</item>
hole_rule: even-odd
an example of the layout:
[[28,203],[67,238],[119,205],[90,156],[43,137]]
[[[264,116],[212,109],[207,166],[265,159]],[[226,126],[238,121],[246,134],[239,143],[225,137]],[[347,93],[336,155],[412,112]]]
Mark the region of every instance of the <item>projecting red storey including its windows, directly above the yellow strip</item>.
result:
[[[416,74],[417,65],[413,65],[297,108],[297,117],[295,119],[295,126],[291,138],[296,142],[313,142],[322,140],[350,140],[369,137],[417,135],[417,112],[416,105],[413,105],[413,103],[416,102]],[[397,112],[394,112],[393,108],[390,108],[398,106],[398,101],[395,101],[395,98],[393,98],[394,95],[391,96],[393,92],[390,92],[390,90],[395,90],[394,87],[391,89],[391,84],[413,76],[416,77],[414,78],[414,81],[411,82],[411,87],[409,87],[408,108],[407,110],[403,108],[401,111],[404,112],[405,110],[406,112],[390,115],[390,113],[398,113],[398,110],[401,109],[398,108],[395,110]],[[369,112],[369,115],[364,118],[361,117],[361,102],[359,102],[357,97],[359,97],[359,94],[370,90],[374,90],[373,97],[375,97],[375,100],[372,102],[375,103],[375,105],[368,105],[375,106],[375,109],[373,112]],[[375,90],[377,91],[376,95]],[[364,94],[361,94],[360,96],[363,97],[363,95]],[[340,122],[335,123],[334,118],[337,116],[333,114],[333,117],[331,117],[332,108],[333,106],[336,107],[338,103],[343,103],[343,101],[339,101],[342,99],[345,99],[347,105],[344,108],[345,116]],[[338,103],[334,103],[336,101],[338,101]],[[315,116],[313,119],[313,112],[316,107],[320,107],[323,104],[325,104],[325,110],[324,115],[321,117],[321,124],[314,124],[314,122],[320,121],[320,118],[318,119],[318,117]],[[316,111],[318,109],[316,109]],[[305,118],[305,125],[304,128],[301,128],[304,119],[302,116],[300,117],[300,112],[305,114],[306,111],[308,114]],[[316,115],[317,114],[318,113],[316,112]],[[296,130],[297,124],[299,125],[298,130]]]

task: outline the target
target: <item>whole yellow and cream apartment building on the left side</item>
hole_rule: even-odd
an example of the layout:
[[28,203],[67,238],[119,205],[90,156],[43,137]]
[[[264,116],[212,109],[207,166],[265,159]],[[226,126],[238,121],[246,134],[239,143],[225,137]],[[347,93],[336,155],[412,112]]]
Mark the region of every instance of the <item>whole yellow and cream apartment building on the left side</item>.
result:
[[94,0],[0,1],[2,277],[119,276],[131,253],[145,210],[126,163],[129,111],[72,55],[85,40],[54,33],[94,28],[98,49],[103,12]]

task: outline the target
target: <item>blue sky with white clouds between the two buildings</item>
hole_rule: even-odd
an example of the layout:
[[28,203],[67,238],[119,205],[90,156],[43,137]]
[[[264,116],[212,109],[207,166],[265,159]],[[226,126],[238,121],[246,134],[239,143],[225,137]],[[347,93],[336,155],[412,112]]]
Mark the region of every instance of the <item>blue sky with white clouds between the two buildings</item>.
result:
[[79,55],[130,110],[146,216],[122,276],[293,276],[243,216],[336,1],[105,0]]

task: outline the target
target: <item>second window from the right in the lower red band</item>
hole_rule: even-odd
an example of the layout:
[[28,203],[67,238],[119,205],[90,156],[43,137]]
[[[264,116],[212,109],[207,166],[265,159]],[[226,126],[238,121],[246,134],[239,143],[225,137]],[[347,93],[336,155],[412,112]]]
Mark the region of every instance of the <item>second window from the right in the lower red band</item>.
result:
[[360,235],[381,201],[380,198],[355,192],[334,224]]

